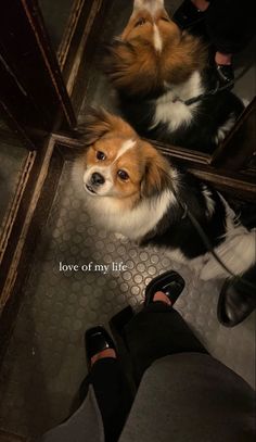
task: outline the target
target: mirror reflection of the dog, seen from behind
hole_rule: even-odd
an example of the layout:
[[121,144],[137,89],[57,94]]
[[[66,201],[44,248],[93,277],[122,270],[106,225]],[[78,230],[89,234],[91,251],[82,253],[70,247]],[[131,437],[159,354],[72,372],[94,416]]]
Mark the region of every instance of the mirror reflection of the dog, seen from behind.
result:
[[179,29],[164,0],[135,0],[102,68],[125,118],[150,139],[213,153],[244,110],[230,90],[212,93],[217,80],[205,45]]

